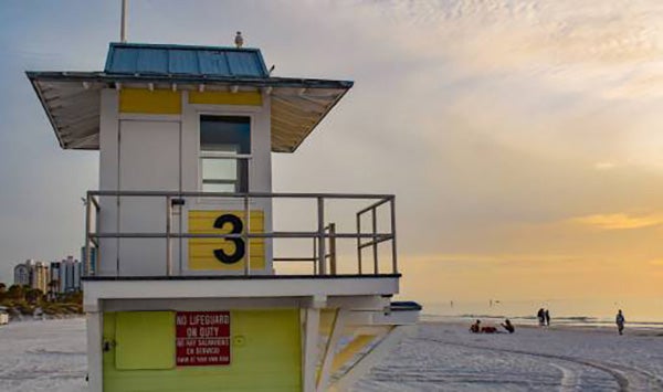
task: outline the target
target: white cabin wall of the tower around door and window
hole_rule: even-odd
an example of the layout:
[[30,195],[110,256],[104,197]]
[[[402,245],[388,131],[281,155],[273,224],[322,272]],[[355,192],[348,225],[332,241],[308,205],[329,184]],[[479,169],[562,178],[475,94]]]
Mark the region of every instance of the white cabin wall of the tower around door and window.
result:
[[[125,161],[119,162],[122,159],[122,141],[119,136],[124,133],[126,135],[127,131],[131,131],[130,126],[135,127],[136,121],[146,121],[141,123],[146,127],[160,126],[161,121],[168,121],[169,124],[176,123],[180,126],[181,129],[181,152],[180,152],[180,172],[173,171],[172,176],[180,177],[177,179],[177,182],[180,182],[182,191],[199,191],[201,189],[199,181],[199,159],[198,159],[198,150],[199,150],[199,118],[201,114],[218,114],[218,115],[245,115],[251,117],[251,149],[252,149],[252,162],[250,163],[250,172],[249,172],[249,187],[252,192],[271,192],[272,191],[272,165],[271,165],[271,108],[270,108],[270,97],[263,96],[263,106],[231,106],[231,105],[189,105],[188,104],[188,93],[181,92],[182,94],[182,113],[180,115],[135,115],[135,114],[119,114],[118,113],[118,92],[115,89],[104,89],[102,91],[102,115],[99,120],[99,144],[101,144],[101,155],[99,155],[99,189],[101,190],[126,190],[125,187],[122,186],[120,178],[124,176],[119,172],[119,168],[122,167],[123,171],[134,170],[131,173],[135,178],[146,178],[150,176],[155,176],[155,168],[152,165],[148,165],[150,159],[158,159],[154,156],[155,146],[150,146],[150,148],[146,148],[146,153],[144,157],[143,163],[140,160],[131,161],[127,163]],[[129,123],[133,121],[133,123]],[[130,126],[127,126],[129,125]],[[127,139],[127,138],[125,138]],[[124,140],[124,139],[123,139]],[[168,141],[170,140],[170,141]],[[127,140],[125,140],[126,142]],[[160,140],[151,140],[156,144],[171,144],[177,142],[173,141],[172,138],[164,138]],[[173,151],[176,146],[160,146],[157,150],[164,151]],[[135,146],[131,147],[135,150]],[[134,153],[135,155],[135,153]],[[170,152],[172,155],[172,152]],[[162,157],[161,157],[162,158]],[[177,159],[177,157],[173,157]],[[127,166],[130,166],[129,169]],[[165,172],[159,172],[159,177],[165,176]],[[125,181],[126,182],[126,181]],[[151,182],[151,181],[146,181]],[[143,189],[143,190],[164,190],[161,187],[151,186],[152,189]],[[158,189],[154,189],[158,188]],[[168,187],[171,188],[171,187]],[[137,190],[137,186],[133,184],[133,190]],[[177,189],[173,189],[177,190]],[[155,199],[154,203],[162,205],[164,215],[166,213],[166,208],[162,200]],[[118,216],[117,210],[117,201],[115,198],[102,198],[101,200],[102,213],[99,220],[99,230],[101,232],[116,232],[118,224],[120,230],[126,231],[126,227],[136,226],[131,222],[136,222],[136,220],[150,220],[150,216],[147,214],[157,213],[157,210],[152,210],[151,212],[147,212],[147,209],[134,209],[127,214],[125,211],[120,213]],[[125,200],[120,205],[125,205]],[[252,209],[264,210],[265,213],[265,231],[272,230],[272,203],[271,200],[255,200],[252,201]],[[122,209],[122,206],[120,206]],[[186,211],[188,210],[241,210],[243,209],[243,202],[241,199],[238,199],[235,202],[231,201],[219,201],[219,200],[209,200],[206,199],[196,199],[196,200],[187,200],[187,204],[185,209],[182,209],[185,216],[181,216],[182,230],[187,230],[187,219]],[[150,209],[151,210],[151,209]],[[173,215],[173,225],[176,227],[179,226],[180,216]],[[149,230],[152,230],[151,227]],[[161,230],[165,232],[165,226]],[[131,240],[134,242],[143,241],[145,244],[148,242],[145,240]],[[126,240],[122,240],[122,242],[127,243]],[[152,241],[154,242],[154,241]],[[165,240],[162,241],[165,242]],[[115,275],[116,266],[118,259],[118,240],[115,239],[106,239],[101,241],[101,252],[99,252],[99,261],[97,263],[97,274],[98,275]],[[181,261],[181,265],[186,269],[186,241],[182,241],[181,248],[177,245],[178,241],[173,241],[173,252],[172,252],[172,261],[173,265],[179,265],[179,256],[181,255],[183,259]],[[267,258],[267,268],[263,273],[272,272],[272,246],[271,242],[266,243],[266,258]],[[164,259],[165,255],[160,245],[156,246],[147,246],[140,248],[140,246],[136,246],[136,251],[131,251],[130,248],[127,251],[126,246],[122,246],[122,257],[119,259],[120,264],[120,273],[123,275],[162,275],[165,269],[166,261]],[[149,251],[150,248],[161,247],[161,252],[159,251]],[[147,251],[146,251],[147,250]],[[146,253],[147,252],[147,253]],[[178,268],[173,269],[175,273],[178,273]],[[203,274],[212,274],[213,272],[198,272]]]

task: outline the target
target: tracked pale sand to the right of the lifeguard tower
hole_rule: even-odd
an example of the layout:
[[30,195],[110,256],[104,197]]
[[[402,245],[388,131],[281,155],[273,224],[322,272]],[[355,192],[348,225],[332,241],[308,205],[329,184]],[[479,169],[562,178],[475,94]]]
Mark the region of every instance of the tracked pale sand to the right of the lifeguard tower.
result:
[[663,331],[422,324],[355,391],[662,391]]

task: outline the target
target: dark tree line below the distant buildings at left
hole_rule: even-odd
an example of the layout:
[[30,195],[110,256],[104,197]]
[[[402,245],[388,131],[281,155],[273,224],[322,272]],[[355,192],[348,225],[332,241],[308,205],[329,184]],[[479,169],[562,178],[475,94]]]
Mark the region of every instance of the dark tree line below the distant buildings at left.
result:
[[83,293],[59,294],[49,298],[39,288],[22,285],[8,287],[0,282],[0,306],[6,307],[11,317],[31,316],[38,309],[50,316],[77,315],[83,314]]

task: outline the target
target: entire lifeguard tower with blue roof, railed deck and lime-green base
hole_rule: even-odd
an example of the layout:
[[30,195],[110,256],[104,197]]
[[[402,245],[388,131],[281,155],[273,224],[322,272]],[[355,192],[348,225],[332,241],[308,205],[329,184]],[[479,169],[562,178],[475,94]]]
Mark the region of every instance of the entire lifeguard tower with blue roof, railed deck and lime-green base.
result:
[[[91,391],[346,390],[417,321],[391,303],[393,195],[272,192],[272,152],[352,82],[274,77],[256,49],[137,43],[112,43],[102,72],[28,77],[60,146],[99,151]],[[357,205],[351,226],[336,202]]]

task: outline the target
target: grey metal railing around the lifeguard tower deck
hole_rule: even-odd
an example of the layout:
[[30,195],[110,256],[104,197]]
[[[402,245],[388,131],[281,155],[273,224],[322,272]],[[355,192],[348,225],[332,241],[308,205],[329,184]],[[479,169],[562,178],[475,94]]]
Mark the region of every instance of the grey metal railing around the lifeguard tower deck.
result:
[[[166,202],[166,224],[162,232],[123,232],[118,230],[116,232],[101,232],[101,212],[103,202],[101,198],[112,198],[117,200],[117,226],[120,226],[120,202],[122,198],[156,198],[161,199]],[[202,200],[212,199],[211,205],[218,205],[221,209],[228,208],[229,200],[243,201],[243,213],[244,221],[243,227],[239,233],[185,233],[181,231],[173,230],[172,216],[176,209],[179,209],[178,213],[182,216],[181,206],[185,205],[188,199]],[[297,200],[315,200],[317,205],[317,222],[316,231],[270,231],[270,232],[251,232],[251,203],[257,200],[274,200],[274,199],[297,199]],[[336,223],[325,221],[325,202],[333,200],[366,200],[372,203],[368,206],[359,210],[356,213],[357,231],[355,233],[349,232],[337,232]],[[194,203],[196,205],[196,203]],[[381,205],[389,206],[389,230],[386,232],[378,232],[378,208]],[[361,227],[361,218],[365,214],[370,214],[371,227],[370,232],[364,233]],[[181,265],[177,273],[173,272],[172,266],[172,241],[176,239],[192,240],[192,239],[219,239],[219,240],[232,240],[240,239],[244,242],[245,254],[244,254],[244,275],[251,275],[251,239],[312,239],[313,241],[313,255],[311,257],[287,257],[287,256],[273,256],[273,262],[311,262],[313,264],[313,274],[315,275],[337,275],[337,240],[354,239],[357,244],[357,266],[356,274],[359,275],[379,275],[379,274],[397,274],[398,273],[398,259],[397,259],[397,247],[396,247],[396,203],[394,195],[392,194],[348,194],[348,193],[261,193],[261,192],[249,192],[249,193],[230,193],[230,192],[165,192],[165,191],[88,191],[86,200],[86,220],[85,220],[85,255],[86,255],[86,271],[91,275],[95,275],[94,268],[92,268],[91,255],[92,248],[96,247],[97,259],[96,265],[99,263],[108,263],[108,261],[101,259],[102,252],[99,252],[99,245],[102,239],[165,239],[166,240],[166,275],[187,275]],[[94,222],[94,223],[93,223]],[[93,225],[95,229],[93,230]],[[378,245],[385,242],[391,244],[391,271],[380,272]],[[365,273],[362,267],[362,251],[367,247],[372,248],[372,261],[373,267],[371,273]],[[265,255],[266,257],[266,255]],[[119,275],[119,256],[117,258],[117,265],[115,273]],[[181,262],[181,259],[180,259]],[[328,262],[328,263],[327,263]]]

